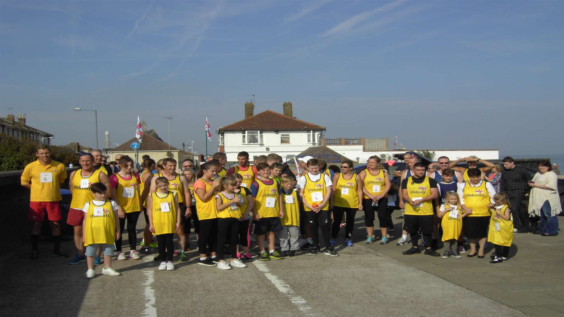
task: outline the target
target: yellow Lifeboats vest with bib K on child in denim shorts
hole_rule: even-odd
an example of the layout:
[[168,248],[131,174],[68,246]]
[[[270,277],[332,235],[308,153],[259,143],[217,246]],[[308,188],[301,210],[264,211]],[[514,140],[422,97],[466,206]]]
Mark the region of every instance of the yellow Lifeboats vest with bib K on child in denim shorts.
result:
[[111,200],[106,199],[100,206],[96,206],[94,201],[91,200],[85,218],[85,246],[98,243],[113,244],[116,242],[116,218],[113,215]]

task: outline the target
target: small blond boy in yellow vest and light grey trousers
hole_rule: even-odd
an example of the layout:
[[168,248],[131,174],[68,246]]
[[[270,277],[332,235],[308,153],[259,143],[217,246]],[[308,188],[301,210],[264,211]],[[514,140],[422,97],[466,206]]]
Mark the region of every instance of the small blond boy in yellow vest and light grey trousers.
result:
[[[280,239],[280,250],[283,257],[293,257],[299,250],[299,202],[294,187],[294,179],[283,176],[280,179],[280,191],[282,192],[282,205],[284,206],[284,218],[282,218],[282,230],[278,231]],[[288,235],[290,241],[288,243]]]

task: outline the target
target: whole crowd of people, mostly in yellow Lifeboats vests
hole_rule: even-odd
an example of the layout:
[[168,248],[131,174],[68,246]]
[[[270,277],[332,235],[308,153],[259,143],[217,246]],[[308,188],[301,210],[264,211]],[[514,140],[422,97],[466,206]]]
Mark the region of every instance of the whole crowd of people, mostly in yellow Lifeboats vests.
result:
[[[49,146],[38,146],[36,154],[38,160],[21,175],[22,186],[30,188],[30,258],[39,258],[45,213],[54,238],[52,255],[68,258],[60,248],[59,223],[60,186],[67,171],[51,160]],[[114,251],[115,259],[124,261],[158,248],[158,270],[173,271],[175,254],[178,261],[188,261],[192,227],[197,263],[202,266],[231,270],[257,258],[293,257],[299,250],[337,257],[341,228],[342,244],[354,245],[351,237],[359,210],[364,213],[364,243],[379,240],[382,245],[395,231],[392,213],[402,210],[396,218],[403,219],[396,245],[411,244],[403,252],[406,255],[423,251],[439,257],[440,240],[443,258],[460,258],[467,251],[465,244],[469,244],[466,257],[484,258],[489,242],[495,246],[490,263],[500,263],[509,258],[515,234],[558,234],[561,204],[557,175],[548,161],[540,161],[539,172],[532,176],[511,157],[493,164],[475,156],[456,161],[442,156],[428,165],[414,152],[404,154],[404,163],[392,175],[378,156],[369,157],[360,169],[349,160],[328,166],[305,156],[298,158],[298,172],[275,153],[258,156],[250,164],[249,153],[240,152],[230,169],[225,169],[227,156],[221,152],[200,166],[184,160],[178,169],[174,158],[155,161],[144,156],[141,170],[129,156],[114,158],[117,165],[111,168],[100,151],[84,153],[81,168],[69,175],[72,201],[67,223],[74,228],[76,246],[69,264],[87,262],[89,279],[102,263],[102,253],[102,274],[120,275],[111,267]],[[522,208],[526,196],[528,208]],[[138,250],[136,226],[141,213],[146,227]],[[376,218],[380,231],[374,231]],[[129,254],[122,249],[125,228]],[[258,246],[255,258],[249,251],[252,241]]]

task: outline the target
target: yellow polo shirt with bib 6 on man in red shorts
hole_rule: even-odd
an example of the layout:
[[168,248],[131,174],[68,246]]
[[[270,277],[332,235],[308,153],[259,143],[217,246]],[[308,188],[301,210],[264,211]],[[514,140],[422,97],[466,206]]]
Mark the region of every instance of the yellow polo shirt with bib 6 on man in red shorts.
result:
[[65,178],[67,170],[63,164],[51,160],[48,165],[43,165],[37,160],[25,166],[24,173],[21,173],[21,184],[32,182],[29,201],[60,201],[63,199],[61,184]]

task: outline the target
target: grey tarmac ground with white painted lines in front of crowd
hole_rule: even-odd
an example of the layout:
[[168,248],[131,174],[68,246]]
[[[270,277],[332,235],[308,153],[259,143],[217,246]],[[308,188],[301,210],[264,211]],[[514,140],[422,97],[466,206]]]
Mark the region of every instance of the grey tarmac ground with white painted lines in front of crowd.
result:
[[[155,249],[138,261],[112,261],[121,276],[102,275],[101,265],[87,280],[86,263],[52,258],[51,239],[44,237],[37,262],[28,259],[29,245],[0,257],[0,268],[9,272],[2,278],[0,315],[564,316],[562,235],[519,234],[511,258],[491,265],[491,250],[483,259],[404,256],[409,246],[395,245],[398,219],[389,244],[364,244],[362,213],[357,216],[355,246],[339,238],[340,257],[302,251],[228,271],[197,265],[196,250],[188,253],[190,261],[175,262],[175,271],[158,271]],[[138,241],[143,227],[140,217]],[[70,239],[63,239],[67,253],[73,253]]]

